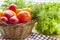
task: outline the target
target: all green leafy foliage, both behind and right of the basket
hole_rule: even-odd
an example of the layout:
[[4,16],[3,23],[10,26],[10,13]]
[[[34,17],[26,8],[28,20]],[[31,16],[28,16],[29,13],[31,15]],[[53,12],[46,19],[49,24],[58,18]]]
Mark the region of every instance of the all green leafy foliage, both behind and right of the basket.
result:
[[17,8],[32,8],[31,16],[37,21],[34,27],[35,30],[42,34],[60,35],[60,3],[30,3],[25,5],[23,1],[15,0],[15,2],[10,2],[7,0],[5,1],[7,4],[2,5],[2,8],[4,9],[11,3],[15,3]]

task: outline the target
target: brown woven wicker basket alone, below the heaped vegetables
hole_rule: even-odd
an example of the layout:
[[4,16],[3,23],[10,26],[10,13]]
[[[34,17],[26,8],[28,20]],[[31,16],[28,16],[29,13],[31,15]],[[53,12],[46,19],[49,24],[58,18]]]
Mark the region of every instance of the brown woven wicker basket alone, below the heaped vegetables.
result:
[[0,31],[2,31],[4,37],[9,40],[23,40],[29,36],[32,32],[35,21],[30,21],[20,24],[0,25]]

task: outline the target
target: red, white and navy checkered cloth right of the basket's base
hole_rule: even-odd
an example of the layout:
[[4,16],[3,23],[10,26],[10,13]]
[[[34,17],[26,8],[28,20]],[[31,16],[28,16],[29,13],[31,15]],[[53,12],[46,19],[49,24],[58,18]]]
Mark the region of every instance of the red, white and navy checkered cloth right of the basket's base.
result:
[[32,33],[30,36],[24,40],[57,40],[55,37],[50,37],[43,34]]

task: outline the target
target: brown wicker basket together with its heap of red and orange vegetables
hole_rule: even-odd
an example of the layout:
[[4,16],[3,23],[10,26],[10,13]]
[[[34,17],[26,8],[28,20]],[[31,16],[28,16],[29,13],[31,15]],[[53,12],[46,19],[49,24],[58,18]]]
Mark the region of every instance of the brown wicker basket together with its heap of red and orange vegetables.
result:
[[5,39],[23,40],[32,33],[35,20],[32,19],[29,11],[19,10],[16,13],[15,8],[10,6],[4,10],[3,17],[1,16],[0,18],[0,22],[2,23],[0,25],[0,31],[3,33],[2,35]]

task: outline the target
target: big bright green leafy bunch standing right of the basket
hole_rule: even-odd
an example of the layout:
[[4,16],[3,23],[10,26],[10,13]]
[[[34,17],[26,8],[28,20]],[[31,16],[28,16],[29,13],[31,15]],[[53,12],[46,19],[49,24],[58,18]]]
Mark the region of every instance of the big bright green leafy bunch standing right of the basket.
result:
[[[36,5],[36,4],[35,4]],[[43,3],[35,7],[37,26],[35,29],[42,34],[60,34],[60,3]]]

